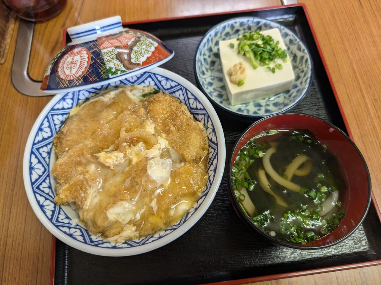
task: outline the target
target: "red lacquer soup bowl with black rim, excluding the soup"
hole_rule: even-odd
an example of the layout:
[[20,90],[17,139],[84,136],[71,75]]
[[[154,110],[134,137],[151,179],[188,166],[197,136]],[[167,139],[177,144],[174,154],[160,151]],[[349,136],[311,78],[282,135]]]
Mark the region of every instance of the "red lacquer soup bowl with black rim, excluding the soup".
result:
[[[314,136],[327,146],[327,149],[334,154],[341,166],[341,172],[346,182],[346,189],[340,191],[341,207],[346,210],[343,220],[331,233],[323,236],[317,241],[308,244],[292,244],[280,241],[262,231],[256,226],[243,211],[238,199],[235,197],[231,174],[232,166],[239,150],[246,142],[263,131],[269,130],[309,130]],[[229,160],[229,195],[232,205],[237,214],[250,223],[259,234],[279,244],[296,249],[321,249],[328,247],[349,237],[362,223],[371,201],[371,182],[368,167],[359,149],[354,142],[334,125],[304,114],[279,114],[266,117],[253,123],[247,128],[242,136],[235,143]]]

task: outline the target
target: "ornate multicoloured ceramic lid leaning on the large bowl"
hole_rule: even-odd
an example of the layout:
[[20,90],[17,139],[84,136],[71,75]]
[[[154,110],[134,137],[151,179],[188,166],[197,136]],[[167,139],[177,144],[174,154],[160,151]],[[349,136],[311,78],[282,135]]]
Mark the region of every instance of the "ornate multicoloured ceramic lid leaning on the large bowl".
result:
[[158,67],[174,52],[150,33],[123,28],[120,16],[67,29],[71,42],[46,68],[41,90],[72,92]]

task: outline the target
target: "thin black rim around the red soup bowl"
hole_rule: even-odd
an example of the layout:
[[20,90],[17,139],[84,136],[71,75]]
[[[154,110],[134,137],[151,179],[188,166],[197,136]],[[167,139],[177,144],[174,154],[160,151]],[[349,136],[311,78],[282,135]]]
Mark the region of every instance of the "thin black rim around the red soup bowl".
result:
[[[363,212],[359,222],[352,228],[352,230],[350,230],[345,236],[337,239],[336,241],[333,241],[333,242],[330,242],[328,244],[323,244],[323,245],[315,245],[315,246],[308,246],[308,245],[295,245],[295,244],[291,244],[291,243],[288,243],[288,242],[283,242],[283,241],[277,241],[276,239],[274,239],[272,236],[270,236],[269,234],[266,234],[264,231],[262,231],[258,226],[256,226],[252,221],[251,219],[248,217],[247,214],[245,214],[245,212],[243,212],[243,209],[242,207],[240,206],[239,204],[239,201],[237,200],[237,198],[235,197],[234,195],[234,189],[233,189],[233,184],[232,184],[232,179],[231,179],[231,174],[232,174],[232,168],[231,168],[231,164],[232,164],[232,159],[233,159],[233,154],[234,154],[234,150],[237,148],[237,145],[239,143],[239,141],[242,139],[242,137],[245,135],[245,133],[247,133],[248,130],[250,130],[250,128],[252,128],[253,126],[255,126],[256,124],[260,123],[260,122],[263,122],[264,120],[267,120],[267,119],[270,119],[272,117],[278,117],[278,116],[287,116],[287,115],[301,115],[301,116],[306,116],[306,117],[311,117],[313,119],[317,119],[317,120],[320,120],[322,121],[323,123],[326,123],[327,125],[330,125],[331,127],[335,128],[336,130],[338,130],[349,142],[351,142],[351,144],[354,146],[355,150],[357,151],[357,153],[360,155],[360,158],[364,164],[364,167],[365,167],[365,171],[367,173],[367,179],[368,179],[368,198],[367,198],[367,204],[365,206],[365,211]],[[369,210],[369,207],[370,207],[370,203],[371,203],[371,196],[372,196],[372,186],[371,186],[371,180],[370,180],[370,174],[369,174],[369,170],[368,170],[368,166],[367,166],[367,163],[365,162],[365,159],[363,157],[363,155],[361,154],[360,150],[358,149],[358,147],[355,145],[355,143],[351,140],[351,138],[349,138],[349,136],[346,135],[346,133],[344,133],[342,130],[340,130],[338,127],[336,127],[335,125],[331,124],[330,122],[327,122],[326,120],[323,120],[323,119],[320,119],[318,117],[315,117],[315,116],[311,116],[311,115],[307,115],[307,114],[303,114],[303,113],[282,113],[282,114],[274,114],[274,115],[271,115],[271,116],[267,116],[263,119],[260,119],[254,123],[252,123],[245,131],[243,131],[243,133],[240,135],[240,137],[237,139],[237,141],[235,142],[234,144],[234,147],[232,149],[232,152],[230,154],[230,158],[229,158],[229,164],[228,164],[228,170],[227,170],[227,173],[228,173],[228,180],[229,180],[229,196],[230,196],[230,199],[231,199],[231,202],[232,202],[232,206],[235,210],[235,212],[237,212],[237,214],[240,216],[240,218],[243,218],[245,219],[245,221],[247,223],[249,223],[251,226],[253,226],[253,228],[258,232],[260,233],[262,236],[265,236],[269,241],[272,241],[272,242],[275,242],[277,244],[280,244],[280,245],[283,245],[283,246],[286,246],[286,247],[291,247],[293,249],[308,249],[308,250],[312,250],[312,249],[323,249],[323,248],[326,248],[326,247],[330,247],[332,245],[335,245],[335,244],[338,244],[339,242],[343,241],[344,239],[346,239],[347,237],[351,236],[352,233],[354,233],[357,228],[359,228],[359,226],[361,225],[361,223],[363,222],[363,220],[365,219],[367,213],[368,213],[368,210]]]

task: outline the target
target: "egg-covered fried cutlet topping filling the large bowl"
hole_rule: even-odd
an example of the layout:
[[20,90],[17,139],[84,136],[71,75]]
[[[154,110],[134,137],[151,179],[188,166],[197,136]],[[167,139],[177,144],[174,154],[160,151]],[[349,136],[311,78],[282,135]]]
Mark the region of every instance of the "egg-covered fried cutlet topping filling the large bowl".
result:
[[122,242],[178,221],[205,189],[207,133],[178,99],[150,87],[104,92],[72,110],[53,140],[55,201],[92,234]]

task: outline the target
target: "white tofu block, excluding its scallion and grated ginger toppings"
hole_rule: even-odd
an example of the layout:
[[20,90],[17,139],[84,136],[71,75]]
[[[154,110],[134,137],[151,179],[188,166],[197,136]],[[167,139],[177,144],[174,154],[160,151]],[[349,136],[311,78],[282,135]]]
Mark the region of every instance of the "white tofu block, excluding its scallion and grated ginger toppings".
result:
[[[285,49],[282,36],[277,28],[261,32],[263,35],[270,35],[274,38],[274,42],[279,41],[279,47]],[[234,48],[229,46],[234,44]],[[282,70],[276,70],[275,73],[267,70],[267,67],[258,67],[254,69],[251,66],[250,59],[238,52],[238,41],[236,38],[219,42],[219,53],[221,58],[221,66],[223,78],[226,86],[226,92],[231,105],[239,105],[251,102],[259,98],[271,97],[275,94],[282,93],[291,88],[295,78],[290,60],[284,62],[283,59],[276,59],[271,62],[270,67],[275,64],[282,64]],[[246,70],[245,83],[242,86],[233,84],[230,80],[229,69],[235,63],[242,62]]]

